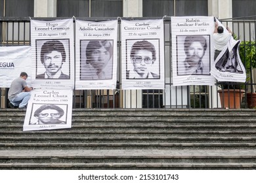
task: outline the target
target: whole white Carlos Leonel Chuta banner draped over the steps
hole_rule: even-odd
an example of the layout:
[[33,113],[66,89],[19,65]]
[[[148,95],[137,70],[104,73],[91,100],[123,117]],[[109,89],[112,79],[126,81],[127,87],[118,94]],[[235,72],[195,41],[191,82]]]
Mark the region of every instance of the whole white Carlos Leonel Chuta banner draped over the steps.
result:
[[23,130],[71,128],[72,97],[70,90],[32,90]]

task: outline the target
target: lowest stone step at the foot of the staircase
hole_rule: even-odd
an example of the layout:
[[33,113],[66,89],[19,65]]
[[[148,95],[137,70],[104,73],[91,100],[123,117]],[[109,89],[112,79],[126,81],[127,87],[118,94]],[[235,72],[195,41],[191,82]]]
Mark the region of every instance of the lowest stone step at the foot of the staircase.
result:
[[252,170],[256,163],[0,163],[14,170]]

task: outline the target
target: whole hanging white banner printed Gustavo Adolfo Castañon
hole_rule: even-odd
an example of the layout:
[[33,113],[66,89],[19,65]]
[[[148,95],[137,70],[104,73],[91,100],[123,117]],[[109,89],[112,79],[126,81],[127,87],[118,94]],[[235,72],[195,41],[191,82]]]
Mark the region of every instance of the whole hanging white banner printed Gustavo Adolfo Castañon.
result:
[[117,20],[76,20],[75,48],[75,89],[115,89]]

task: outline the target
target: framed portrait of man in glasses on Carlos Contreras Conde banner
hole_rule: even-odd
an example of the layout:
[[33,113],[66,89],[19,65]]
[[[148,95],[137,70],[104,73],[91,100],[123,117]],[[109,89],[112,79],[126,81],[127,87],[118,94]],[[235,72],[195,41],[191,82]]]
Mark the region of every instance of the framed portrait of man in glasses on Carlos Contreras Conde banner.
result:
[[160,40],[126,40],[126,78],[160,79]]

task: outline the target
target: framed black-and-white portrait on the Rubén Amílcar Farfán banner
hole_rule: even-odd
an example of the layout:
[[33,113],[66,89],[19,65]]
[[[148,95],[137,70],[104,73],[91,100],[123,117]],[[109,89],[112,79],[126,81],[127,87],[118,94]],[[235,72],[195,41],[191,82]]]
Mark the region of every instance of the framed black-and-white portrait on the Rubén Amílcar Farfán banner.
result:
[[209,35],[177,35],[177,75],[210,75]]

